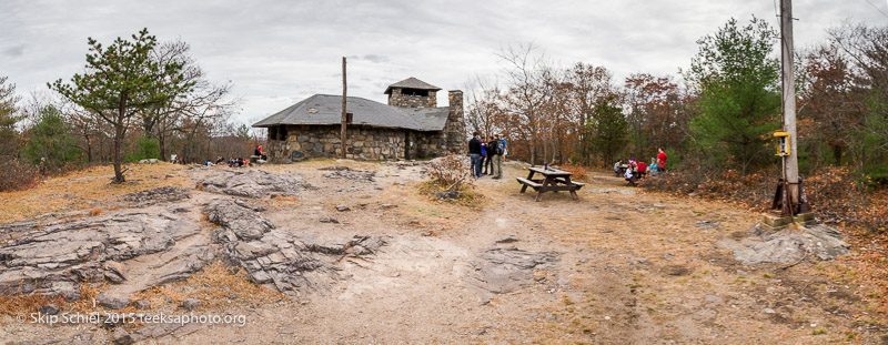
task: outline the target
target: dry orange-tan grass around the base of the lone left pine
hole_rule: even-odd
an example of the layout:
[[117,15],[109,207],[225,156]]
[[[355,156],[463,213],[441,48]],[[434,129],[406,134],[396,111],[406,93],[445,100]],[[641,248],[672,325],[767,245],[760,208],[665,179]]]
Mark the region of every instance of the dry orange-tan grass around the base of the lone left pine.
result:
[[186,169],[184,165],[157,163],[132,164],[128,168],[128,182],[123,184],[111,184],[114,170],[108,165],[50,177],[33,189],[0,193],[0,210],[3,210],[0,212],[0,224],[50,212],[92,210],[92,214],[101,212],[100,205],[123,194],[165,185],[191,186],[188,177],[181,173]]

